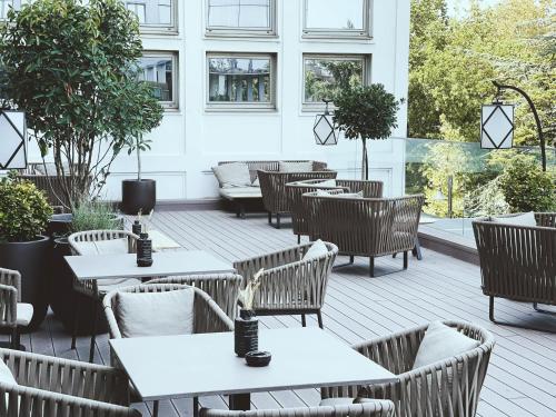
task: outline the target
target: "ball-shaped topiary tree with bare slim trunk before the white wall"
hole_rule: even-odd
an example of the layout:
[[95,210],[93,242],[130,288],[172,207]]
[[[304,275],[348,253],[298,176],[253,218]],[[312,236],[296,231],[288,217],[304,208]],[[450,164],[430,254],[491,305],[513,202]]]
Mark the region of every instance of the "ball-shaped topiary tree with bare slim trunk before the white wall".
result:
[[363,142],[361,177],[369,179],[367,140],[388,139],[397,128],[397,111],[403,100],[396,100],[383,85],[356,86],[344,89],[334,98],[334,121],[348,139]]

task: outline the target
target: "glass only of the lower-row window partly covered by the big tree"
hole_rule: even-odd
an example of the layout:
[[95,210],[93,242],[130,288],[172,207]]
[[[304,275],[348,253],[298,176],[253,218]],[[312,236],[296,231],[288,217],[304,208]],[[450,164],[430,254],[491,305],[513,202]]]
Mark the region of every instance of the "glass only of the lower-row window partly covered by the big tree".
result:
[[139,60],[139,79],[153,86],[160,101],[173,101],[173,61],[171,57],[142,57]]

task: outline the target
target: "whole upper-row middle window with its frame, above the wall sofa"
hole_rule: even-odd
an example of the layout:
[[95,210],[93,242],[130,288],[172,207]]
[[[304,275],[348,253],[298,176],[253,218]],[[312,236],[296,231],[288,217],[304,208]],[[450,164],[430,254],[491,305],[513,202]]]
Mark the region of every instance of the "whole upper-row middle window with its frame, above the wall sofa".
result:
[[272,36],[276,0],[206,0],[207,34]]

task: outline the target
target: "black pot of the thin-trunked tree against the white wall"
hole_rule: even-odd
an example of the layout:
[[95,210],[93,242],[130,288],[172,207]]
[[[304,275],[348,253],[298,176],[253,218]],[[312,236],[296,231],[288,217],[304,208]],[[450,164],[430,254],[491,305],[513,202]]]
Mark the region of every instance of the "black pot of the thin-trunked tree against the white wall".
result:
[[126,215],[149,214],[157,203],[157,181],[125,179],[121,181],[121,211]]

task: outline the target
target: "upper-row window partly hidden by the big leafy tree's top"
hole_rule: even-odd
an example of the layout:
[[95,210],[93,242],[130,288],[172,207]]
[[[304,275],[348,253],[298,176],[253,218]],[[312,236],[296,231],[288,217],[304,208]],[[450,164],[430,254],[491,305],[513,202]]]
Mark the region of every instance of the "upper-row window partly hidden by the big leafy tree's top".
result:
[[126,8],[132,11],[142,30],[176,30],[177,0],[125,0]]

